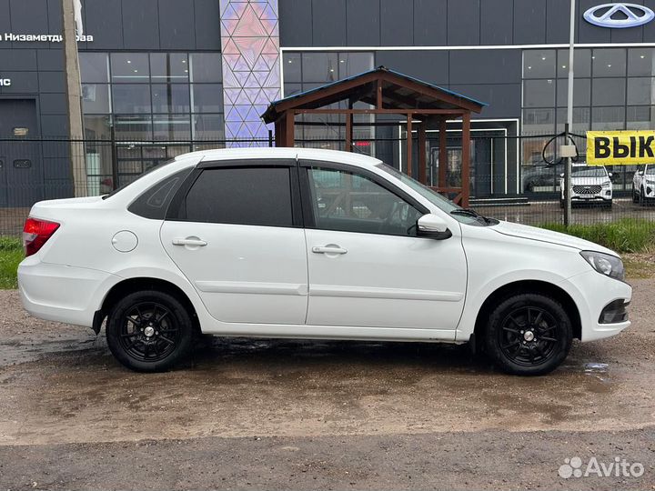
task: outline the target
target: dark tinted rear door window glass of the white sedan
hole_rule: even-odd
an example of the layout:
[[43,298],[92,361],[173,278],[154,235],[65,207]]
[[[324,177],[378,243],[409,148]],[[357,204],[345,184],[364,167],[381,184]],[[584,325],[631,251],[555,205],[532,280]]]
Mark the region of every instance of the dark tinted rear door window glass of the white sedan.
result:
[[288,167],[206,169],[186,195],[186,220],[293,226]]

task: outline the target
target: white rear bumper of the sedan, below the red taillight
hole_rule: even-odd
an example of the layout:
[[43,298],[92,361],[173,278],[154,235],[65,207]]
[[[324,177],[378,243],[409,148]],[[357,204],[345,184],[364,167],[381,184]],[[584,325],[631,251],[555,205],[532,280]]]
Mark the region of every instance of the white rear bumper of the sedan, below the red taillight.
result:
[[119,278],[104,271],[42,263],[26,257],[18,266],[18,290],[25,310],[55,322],[91,327],[109,285]]

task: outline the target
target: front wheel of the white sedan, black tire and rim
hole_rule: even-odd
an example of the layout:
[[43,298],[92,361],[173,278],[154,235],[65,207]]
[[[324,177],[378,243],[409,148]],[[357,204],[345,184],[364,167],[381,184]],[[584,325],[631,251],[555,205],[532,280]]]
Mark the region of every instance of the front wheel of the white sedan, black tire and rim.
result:
[[485,350],[506,373],[545,375],[569,355],[572,332],[569,316],[554,298],[536,293],[510,296],[489,316]]

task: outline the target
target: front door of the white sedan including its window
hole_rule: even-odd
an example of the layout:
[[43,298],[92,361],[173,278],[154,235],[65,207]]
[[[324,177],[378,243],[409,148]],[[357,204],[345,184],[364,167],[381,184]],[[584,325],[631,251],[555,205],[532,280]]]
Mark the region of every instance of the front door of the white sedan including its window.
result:
[[372,173],[323,163],[300,170],[307,324],[438,329],[453,339],[467,283],[459,229],[446,240],[418,237],[428,210]]

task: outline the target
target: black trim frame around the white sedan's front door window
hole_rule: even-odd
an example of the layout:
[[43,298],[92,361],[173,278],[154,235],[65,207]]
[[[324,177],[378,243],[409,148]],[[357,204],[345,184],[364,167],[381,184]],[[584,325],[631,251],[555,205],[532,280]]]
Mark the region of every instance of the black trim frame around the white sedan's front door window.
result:
[[[409,195],[402,189],[389,183],[387,179],[380,177],[379,175],[369,171],[368,169],[364,169],[356,165],[343,164],[340,162],[328,162],[322,160],[300,160],[298,162],[298,169],[300,172],[300,198],[302,201],[302,212],[305,218],[305,228],[311,228],[315,230],[328,230],[324,228],[319,228],[316,225],[316,220],[314,217],[314,206],[312,205],[311,184],[309,182],[309,175],[308,175],[308,170],[311,169],[312,167],[343,171],[343,172],[348,172],[349,174],[352,175],[361,175],[363,177],[366,177],[368,180],[372,181],[374,184],[379,185],[380,187],[386,189],[389,193],[398,196],[398,198],[407,202],[408,205],[415,207],[423,215],[428,215],[428,213],[430,213],[430,210],[425,205],[420,204],[418,200],[415,199],[412,195]],[[333,232],[339,232],[339,231],[334,230]],[[350,234],[371,234],[371,235],[389,235],[394,237],[407,236],[409,238],[426,238],[426,237],[418,237],[414,235],[390,235],[390,234],[382,234],[382,233],[374,233],[374,232],[352,232],[347,230],[342,230],[340,232],[348,232]]]

